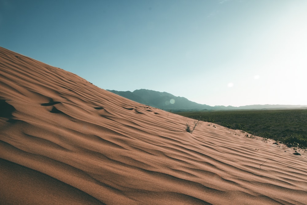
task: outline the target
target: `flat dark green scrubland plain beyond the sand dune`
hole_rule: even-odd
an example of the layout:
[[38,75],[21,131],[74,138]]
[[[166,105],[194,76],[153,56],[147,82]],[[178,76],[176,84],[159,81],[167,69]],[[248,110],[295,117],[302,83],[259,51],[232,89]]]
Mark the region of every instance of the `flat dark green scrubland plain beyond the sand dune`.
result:
[[240,129],[255,136],[270,138],[307,148],[307,109],[175,112],[178,115]]

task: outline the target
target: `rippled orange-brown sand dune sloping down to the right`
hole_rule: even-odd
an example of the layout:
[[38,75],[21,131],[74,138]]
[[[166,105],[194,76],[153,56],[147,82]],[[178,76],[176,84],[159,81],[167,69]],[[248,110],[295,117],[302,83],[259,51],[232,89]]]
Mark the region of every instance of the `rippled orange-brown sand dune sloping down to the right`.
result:
[[208,122],[190,134],[192,119],[1,47],[0,68],[0,204],[307,203],[302,150]]

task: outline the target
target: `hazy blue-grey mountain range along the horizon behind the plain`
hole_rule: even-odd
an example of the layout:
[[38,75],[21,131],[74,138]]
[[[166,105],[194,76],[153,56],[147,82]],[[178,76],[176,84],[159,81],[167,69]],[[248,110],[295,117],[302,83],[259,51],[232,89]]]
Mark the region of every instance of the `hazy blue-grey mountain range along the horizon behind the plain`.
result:
[[279,108],[307,108],[307,105],[246,105],[240,107],[233,106],[210,106],[189,101],[185,97],[176,97],[170,93],[158,92],[154,90],[139,89],[131,91],[107,90],[132,101],[150,105],[162,110],[185,111],[185,110],[241,110],[241,109],[279,109]]

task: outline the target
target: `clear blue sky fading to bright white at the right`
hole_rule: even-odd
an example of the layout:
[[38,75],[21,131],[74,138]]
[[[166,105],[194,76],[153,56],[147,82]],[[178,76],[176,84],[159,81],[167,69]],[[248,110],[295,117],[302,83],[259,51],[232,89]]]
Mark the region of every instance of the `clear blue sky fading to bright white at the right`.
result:
[[0,46],[102,89],[307,104],[306,0],[0,0]]

